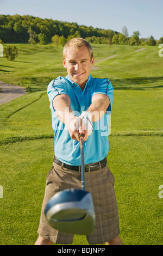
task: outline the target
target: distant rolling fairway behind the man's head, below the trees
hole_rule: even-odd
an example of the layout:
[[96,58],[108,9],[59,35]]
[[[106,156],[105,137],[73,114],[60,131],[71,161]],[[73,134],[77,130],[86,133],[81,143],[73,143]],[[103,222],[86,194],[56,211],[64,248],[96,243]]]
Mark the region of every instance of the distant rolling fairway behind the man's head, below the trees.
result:
[[[16,45],[16,44],[14,44]],[[47,84],[59,75],[66,75],[62,65],[62,47],[53,45],[16,45],[20,53],[14,62],[3,58],[1,80],[29,86],[31,92],[46,90]],[[109,77],[114,88],[160,88],[163,81],[162,58],[158,47],[92,45],[95,60],[119,54],[112,59],[95,63],[99,70],[91,71],[95,77]],[[14,76],[13,76],[14,74]]]

